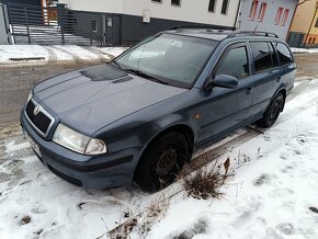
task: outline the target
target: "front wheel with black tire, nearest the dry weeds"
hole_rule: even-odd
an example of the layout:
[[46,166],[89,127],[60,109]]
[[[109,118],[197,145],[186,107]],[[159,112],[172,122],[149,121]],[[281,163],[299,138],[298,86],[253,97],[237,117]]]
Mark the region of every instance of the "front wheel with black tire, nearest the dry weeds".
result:
[[135,181],[141,190],[157,192],[174,181],[190,157],[185,137],[180,133],[168,133],[146,149]]

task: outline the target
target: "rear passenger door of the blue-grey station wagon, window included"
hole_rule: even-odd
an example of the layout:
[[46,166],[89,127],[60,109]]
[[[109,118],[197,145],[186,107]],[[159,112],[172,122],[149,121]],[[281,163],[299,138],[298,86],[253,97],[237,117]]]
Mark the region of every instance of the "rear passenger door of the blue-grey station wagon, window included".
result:
[[284,75],[271,42],[250,41],[252,52],[252,71],[254,93],[251,103],[251,114],[263,114],[274,93],[279,89]]

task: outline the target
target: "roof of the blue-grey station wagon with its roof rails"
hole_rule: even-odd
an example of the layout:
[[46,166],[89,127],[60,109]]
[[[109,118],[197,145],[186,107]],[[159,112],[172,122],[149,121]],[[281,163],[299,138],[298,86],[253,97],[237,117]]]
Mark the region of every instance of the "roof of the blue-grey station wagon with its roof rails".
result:
[[253,31],[231,31],[209,27],[174,27],[163,33],[193,36],[213,41],[223,41],[226,38],[248,38],[248,39],[281,39],[274,33],[253,32]]

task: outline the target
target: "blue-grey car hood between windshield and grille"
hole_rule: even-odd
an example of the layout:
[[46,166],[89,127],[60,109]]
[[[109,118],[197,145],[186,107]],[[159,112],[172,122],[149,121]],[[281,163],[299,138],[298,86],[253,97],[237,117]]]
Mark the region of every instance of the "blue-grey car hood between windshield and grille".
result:
[[188,91],[102,65],[38,83],[33,94],[59,120],[87,135],[152,104]]

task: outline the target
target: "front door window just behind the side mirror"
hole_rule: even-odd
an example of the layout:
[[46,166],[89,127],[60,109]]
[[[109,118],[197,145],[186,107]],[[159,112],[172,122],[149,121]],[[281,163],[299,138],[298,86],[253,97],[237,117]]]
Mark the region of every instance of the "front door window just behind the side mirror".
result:
[[218,62],[215,75],[229,75],[236,78],[243,78],[249,75],[247,48],[245,45],[230,46]]

